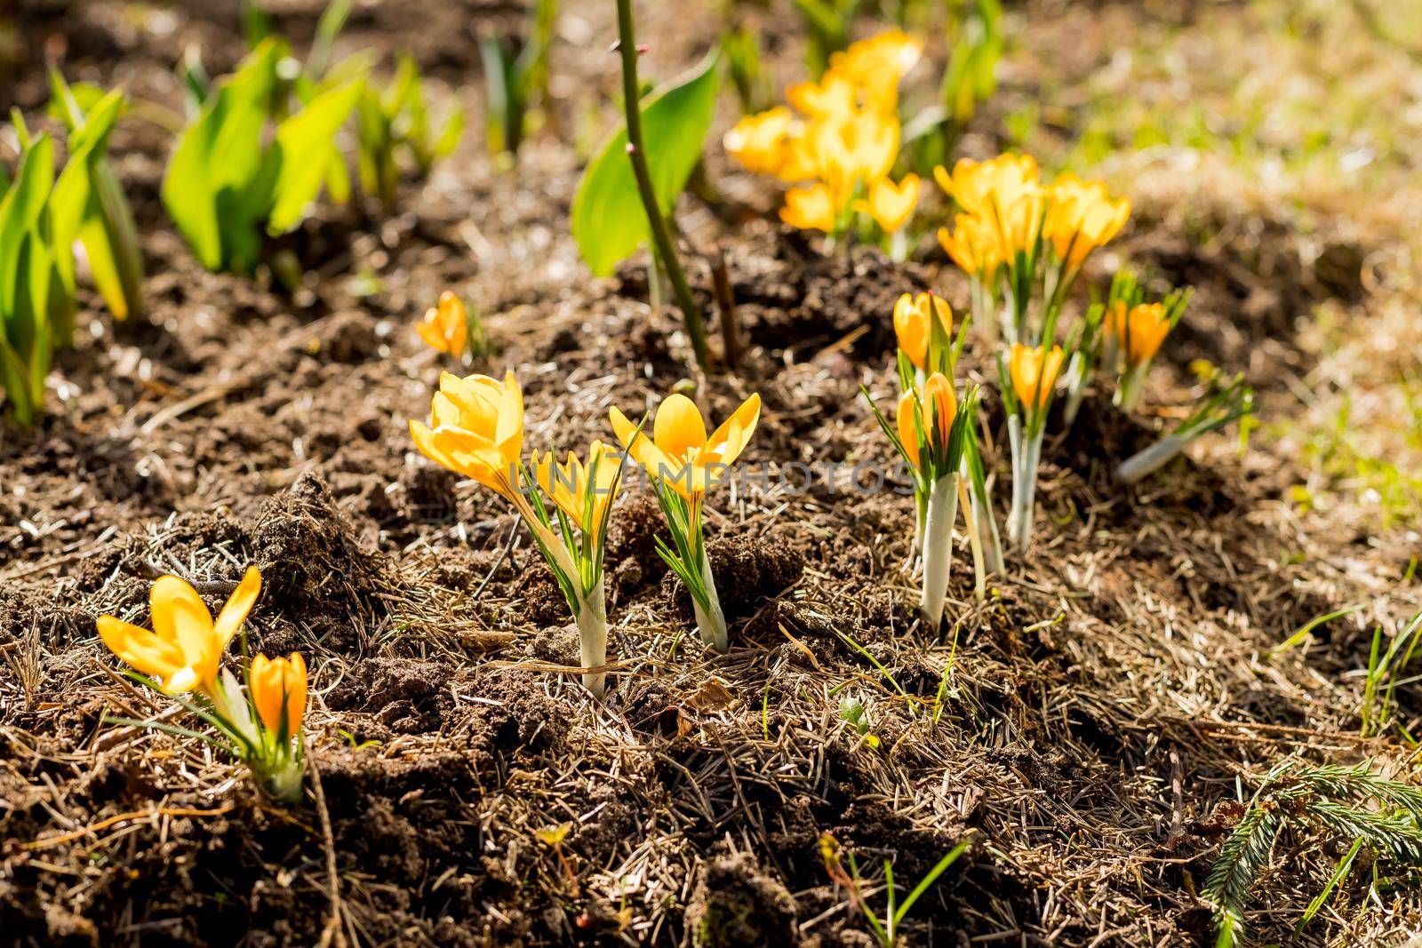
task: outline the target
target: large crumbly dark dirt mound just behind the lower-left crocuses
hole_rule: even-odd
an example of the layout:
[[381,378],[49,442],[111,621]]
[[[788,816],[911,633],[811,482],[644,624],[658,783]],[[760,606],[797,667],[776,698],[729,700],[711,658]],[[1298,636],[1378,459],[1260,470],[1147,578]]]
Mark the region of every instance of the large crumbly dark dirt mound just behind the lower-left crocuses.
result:
[[358,627],[388,613],[380,597],[392,583],[388,561],[364,549],[356,524],[314,473],[269,500],[252,534],[266,586],[266,608],[326,637],[328,648],[360,647]]

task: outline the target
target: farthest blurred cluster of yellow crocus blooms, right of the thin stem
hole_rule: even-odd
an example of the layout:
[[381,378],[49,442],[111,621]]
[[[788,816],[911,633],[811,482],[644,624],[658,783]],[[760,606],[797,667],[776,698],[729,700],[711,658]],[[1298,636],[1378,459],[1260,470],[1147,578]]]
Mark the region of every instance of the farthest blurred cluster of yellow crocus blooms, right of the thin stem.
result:
[[920,181],[889,175],[899,158],[899,82],[923,53],[900,30],[852,44],[818,82],[789,87],[791,108],[748,115],[727,132],[727,152],[747,171],[792,185],[781,219],[842,235],[855,213],[897,235],[919,203]]

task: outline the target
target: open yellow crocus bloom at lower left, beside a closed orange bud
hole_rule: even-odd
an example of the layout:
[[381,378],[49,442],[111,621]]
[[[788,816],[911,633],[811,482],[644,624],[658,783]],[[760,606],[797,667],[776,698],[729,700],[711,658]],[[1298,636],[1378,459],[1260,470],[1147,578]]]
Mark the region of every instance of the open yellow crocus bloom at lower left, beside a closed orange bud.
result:
[[148,593],[154,631],[100,615],[98,635],[125,664],[162,684],[164,694],[216,694],[222,651],[242,628],[262,591],[262,574],[249,567],[216,621],[198,591],[176,576],[162,576]]

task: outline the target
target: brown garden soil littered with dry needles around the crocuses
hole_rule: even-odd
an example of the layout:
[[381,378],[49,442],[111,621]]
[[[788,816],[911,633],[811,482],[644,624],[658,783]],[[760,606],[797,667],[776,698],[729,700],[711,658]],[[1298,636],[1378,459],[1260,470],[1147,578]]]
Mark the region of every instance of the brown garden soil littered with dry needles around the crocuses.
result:
[[[300,43],[323,4],[272,6]],[[563,128],[616,84],[611,4],[569,6],[582,40],[557,60],[577,91]],[[717,34],[714,4],[641,6],[653,72],[675,72]],[[478,117],[475,31],[519,16],[503,3],[360,4],[340,50],[411,48]],[[28,58],[0,98],[40,124],[51,37],[71,77],[168,108],[188,43],[215,72],[242,51],[236,0],[30,0],[14,23]],[[768,36],[793,67],[788,33]],[[53,414],[0,446],[0,647],[37,668],[0,669],[7,944],[311,945],[334,918],[353,944],[867,945],[820,860],[823,831],[866,871],[893,860],[904,887],[973,837],[914,907],[904,944],[1203,944],[1194,893],[1236,776],[1291,750],[1378,750],[1348,736],[1357,691],[1334,674],[1367,664],[1369,613],[1320,632],[1308,661],[1332,669],[1327,686],[1297,655],[1260,654],[1398,583],[1401,547],[1337,517],[1294,517],[1278,503],[1290,463],[1267,443],[1240,456],[1210,439],[1119,489],[1105,459],[1156,429],[1105,398],[1048,442],[1041,543],[985,603],[960,551],[941,635],[919,625],[902,573],[912,500],[816,479],[715,497],[710,550],[734,647],[704,655],[653,547],[656,503],[626,497],[607,553],[620,665],[607,701],[592,702],[574,675],[549,671],[577,664],[576,634],[522,530],[505,551],[509,509],[414,453],[405,419],[428,411],[438,365],[408,324],[444,289],[478,300],[498,350],[482,368],[519,370],[540,449],[609,438],[607,406],[640,412],[687,374],[687,347],[675,313],[643,301],[641,263],[610,281],[580,270],[573,151],[538,138],[499,172],[478,125],[431,183],[402,190],[398,213],[327,208],[304,225],[292,246],[310,274],[294,294],[202,271],[158,203],[165,134],[135,118],[115,135],[152,311],[112,325],[87,297]],[[712,176],[728,175],[712,152]],[[890,391],[897,294],[934,286],[961,306],[961,279],[927,247],[906,267],[867,249],[823,257],[725,213],[687,213],[698,243],[725,250],[749,345],[735,374],[702,384],[711,416],[762,394],[751,468],[889,462],[859,385]],[[1295,321],[1317,300],[1357,298],[1355,249],[1305,269],[1273,226],[1250,235],[1267,256],[1149,215],[1123,242],[1200,287],[1153,394],[1179,401],[1197,357],[1250,368],[1268,345],[1304,364]],[[374,294],[356,294],[363,271]],[[691,276],[710,303],[707,267]],[[970,372],[990,378],[974,360]],[[1300,549],[1307,561],[1290,556]],[[292,812],[195,740],[102,721],[166,708],[111,674],[94,617],[145,621],[165,571],[218,604],[250,563],[266,581],[253,648],[299,648],[314,675],[323,803],[313,782]],[[877,746],[842,719],[845,698],[863,704]],[[1409,709],[1415,698],[1401,695]],[[562,823],[556,853],[535,831]],[[1271,915],[1258,937],[1287,938],[1293,921]]]

